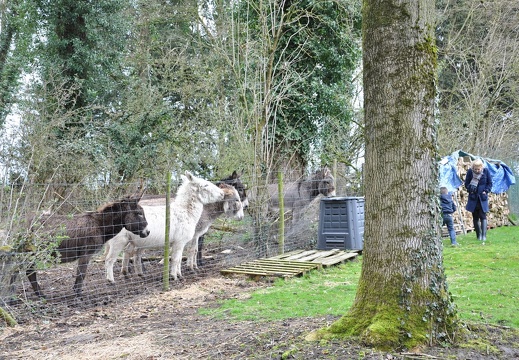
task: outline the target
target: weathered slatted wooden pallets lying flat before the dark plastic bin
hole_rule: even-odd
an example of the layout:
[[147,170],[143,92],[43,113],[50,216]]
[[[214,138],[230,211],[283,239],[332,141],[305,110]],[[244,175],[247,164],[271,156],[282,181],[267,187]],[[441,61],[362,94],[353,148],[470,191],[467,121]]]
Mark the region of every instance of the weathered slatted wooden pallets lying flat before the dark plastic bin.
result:
[[264,276],[287,278],[304,275],[310,270],[336,265],[357,255],[358,252],[346,252],[338,249],[327,251],[296,250],[268,259],[249,261],[220,272],[224,275],[243,274],[252,278]]

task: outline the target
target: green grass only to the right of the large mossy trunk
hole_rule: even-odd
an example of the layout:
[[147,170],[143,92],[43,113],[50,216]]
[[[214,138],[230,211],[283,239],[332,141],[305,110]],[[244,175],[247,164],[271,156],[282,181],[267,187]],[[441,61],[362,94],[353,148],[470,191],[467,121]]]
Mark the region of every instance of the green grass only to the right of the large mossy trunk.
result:
[[484,246],[458,238],[459,248],[444,243],[444,266],[460,317],[519,328],[519,227],[489,230]]

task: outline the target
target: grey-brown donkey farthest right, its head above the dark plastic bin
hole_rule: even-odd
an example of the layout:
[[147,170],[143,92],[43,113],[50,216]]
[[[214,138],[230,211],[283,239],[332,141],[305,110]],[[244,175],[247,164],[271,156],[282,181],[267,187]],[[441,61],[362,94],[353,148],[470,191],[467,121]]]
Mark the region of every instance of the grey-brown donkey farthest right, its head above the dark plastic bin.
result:
[[[277,184],[268,187],[270,194],[270,211],[279,211],[279,198]],[[297,210],[310,204],[317,196],[335,196],[335,179],[331,171],[324,167],[317,170],[305,180],[289,183],[283,191],[285,209],[291,210],[295,215]],[[296,218],[296,216],[294,216]]]

